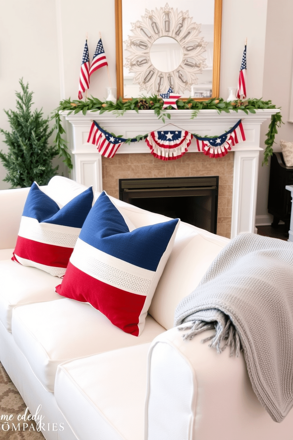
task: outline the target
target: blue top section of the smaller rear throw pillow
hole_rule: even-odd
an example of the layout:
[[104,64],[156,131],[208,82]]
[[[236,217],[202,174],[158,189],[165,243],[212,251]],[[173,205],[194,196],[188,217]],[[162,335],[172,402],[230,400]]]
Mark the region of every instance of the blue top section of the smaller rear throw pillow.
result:
[[34,218],[39,223],[81,228],[91,209],[93,198],[93,189],[90,187],[59,209],[57,203],[43,193],[34,182],[29,190],[22,215]]

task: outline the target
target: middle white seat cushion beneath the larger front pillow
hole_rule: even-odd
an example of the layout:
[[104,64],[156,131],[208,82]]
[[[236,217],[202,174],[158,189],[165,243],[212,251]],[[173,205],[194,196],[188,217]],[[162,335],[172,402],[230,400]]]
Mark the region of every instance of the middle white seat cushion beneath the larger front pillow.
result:
[[151,317],[141,337],[120,330],[88,303],[58,301],[14,308],[12,335],[43,387],[54,392],[60,363],[150,342],[165,329]]

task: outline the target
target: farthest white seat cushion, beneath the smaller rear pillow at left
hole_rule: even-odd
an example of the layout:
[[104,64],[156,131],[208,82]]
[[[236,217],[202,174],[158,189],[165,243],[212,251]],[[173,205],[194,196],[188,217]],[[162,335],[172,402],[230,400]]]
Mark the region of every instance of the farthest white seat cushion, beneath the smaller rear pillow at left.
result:
[[15,264],[11,259],[0,261],[0,280],[0,321],[9,332],[15,307],[62,299],[55,292],[54,276],[40,269]]

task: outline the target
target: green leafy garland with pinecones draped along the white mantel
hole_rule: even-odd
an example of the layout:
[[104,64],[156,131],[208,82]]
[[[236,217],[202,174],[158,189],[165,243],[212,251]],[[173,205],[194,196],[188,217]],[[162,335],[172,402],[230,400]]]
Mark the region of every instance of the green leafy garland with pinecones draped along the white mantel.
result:
[[[64,157],[64,162],[69,169],[72,169],[71,157],[67,149],[66,141],[61,137],[65,133],[64,128],[61,124],[60,111],[69,110],[70,113],[79,113],[80,111],[85,115],[87,111],[96,111],[99,114],[105,111],[112,111],[117,116],[122,116],[127,110],[154,110],[154,113],[159,119],[162,119],[165,123],[166,118],[170,119],[171,114],[166,110],[171,110],[172,107],[169,106],[165,110],[162,110],[163,100],[156,96],[142,97],[142,98],[132,98],[128,101],[123,101],[121,98],[117,100],[116,104],[112,101],[100,101],[98,98],[85,99],[85,101],[78,101],[71,99],[64,99],[60,101],[59,106],[54,110],[52,119],[55,120],[54,129],[57,131],[54,143],[58,149],[58,153]],[[218,113],[222,111],[230,113],[231,111],[238,112],[238,110],[244,111],[244,113],[256,113],[257,109],[275,109],[276,106],[271,103],[271,101],[262,101],[261,99],[247,99],[245,101],[236,100],[232,102],[226,102],[222,98],[209,99],[207,101],[195,101],[192,98],[182,101],[177,100],[178,110],[193,110],[191,118],[197,116],[199,110],[217,110]],[[267,139],[265,140],[266,148],[264,150],[264,161],[262,165],[268,164],[268,158],[273,154],[273,143],[275,143],[275,135],[278,133],[277,127],[280,127],[282,123],[282,115],[280,112],[271,115],[271,123],[268,128],[268,133],[266,134]],[[137,138],[143,138],[143,136],[137,136]]]

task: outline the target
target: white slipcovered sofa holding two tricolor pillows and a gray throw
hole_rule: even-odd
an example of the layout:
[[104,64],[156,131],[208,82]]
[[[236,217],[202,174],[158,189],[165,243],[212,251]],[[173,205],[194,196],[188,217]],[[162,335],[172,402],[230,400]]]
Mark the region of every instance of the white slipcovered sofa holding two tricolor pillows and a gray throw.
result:
[[[60,205],[84,189],[60,176],[42,187]],[[272,421],[243,356],[202,344],[211,331],[184,341],[173,327],[177,303],[227,238],[181,222],[136,337],[55,293],[60,279],[11,260],[28,191],[0,191],[0,361],[47,440],[293,439],[293,411]],[[166,221],[115,202],[136,227]]]

